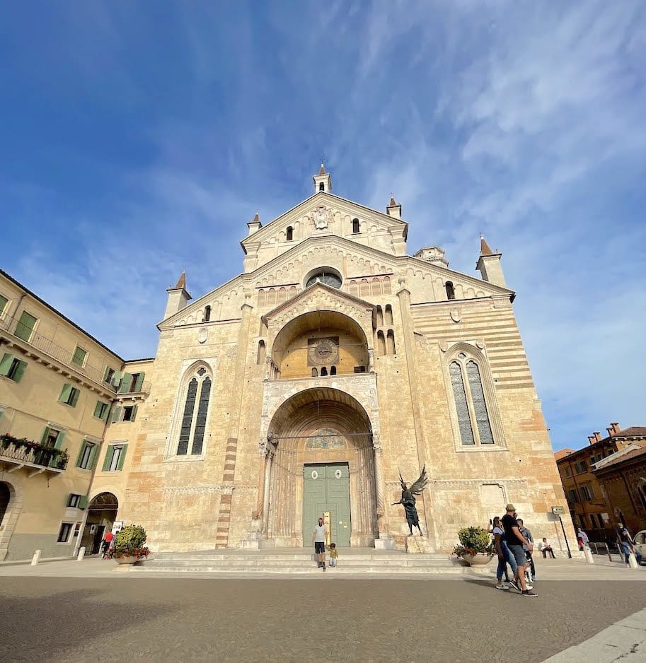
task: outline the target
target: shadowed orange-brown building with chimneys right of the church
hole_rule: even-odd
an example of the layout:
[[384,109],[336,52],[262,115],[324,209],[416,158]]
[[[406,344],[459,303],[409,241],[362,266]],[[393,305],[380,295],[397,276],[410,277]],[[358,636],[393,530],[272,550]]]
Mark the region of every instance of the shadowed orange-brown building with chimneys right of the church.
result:
[[[641,484],[638,477],[633,477],[636,481],[629,491],[617,471],[626,449],[640,449],[646,445],[646,427],[633,426],[622,430],[613,422],[606,430],[608,434],[604,438],[599,431],[589,435],[589,444],[582,449],[563,449],[555,453],[572,521],[593,541],[614,539],[613,529],[623,520],[625,513],[630,514],[631,524],[642,523],[638,529],[646,527],[639,515]],[[634,495],[629,497],[629,492]],[[637,500],[635,508],[632,500]]]

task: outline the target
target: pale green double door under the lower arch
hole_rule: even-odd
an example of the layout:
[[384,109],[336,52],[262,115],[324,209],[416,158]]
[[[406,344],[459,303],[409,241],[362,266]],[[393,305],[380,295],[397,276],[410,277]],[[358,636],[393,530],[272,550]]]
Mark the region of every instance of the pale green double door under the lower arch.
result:
[[330,542],[350,546],[350,472],[347,463],[304,467],[303,545],[311,546],[318,518],[330,513]]

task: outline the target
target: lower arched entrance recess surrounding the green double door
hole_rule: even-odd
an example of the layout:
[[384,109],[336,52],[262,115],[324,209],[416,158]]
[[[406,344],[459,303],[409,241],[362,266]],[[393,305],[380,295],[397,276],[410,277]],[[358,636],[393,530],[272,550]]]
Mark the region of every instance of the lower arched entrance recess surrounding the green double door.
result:
[[339,389],[306,389],[277,409],[269,439],[275,451],[267,539],[277,546],[309,546],[316,519],[325,514],[339,546],[373,544],[374,449],[361,404]]

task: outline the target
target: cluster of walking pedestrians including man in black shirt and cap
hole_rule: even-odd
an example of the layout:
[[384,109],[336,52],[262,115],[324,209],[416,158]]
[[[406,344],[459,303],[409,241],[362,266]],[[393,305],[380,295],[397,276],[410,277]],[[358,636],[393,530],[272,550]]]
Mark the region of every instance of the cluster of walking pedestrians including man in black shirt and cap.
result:
[[[531,580],[536,580],[536,569],[531,558],[531,532],[524,527],[523,521],[517,518],[513,504],[508,504],[505,510],[502,518],[496,516],[492,521],[492,534],[498,556],[496,589],[513,587],[524,597],[537,597],[538,594],[533,591],[533,585],[528,584],[526,577],[526,570],[531,569]],[[507,564],[512,569],[512,578],[509,578],[507,573]],[[502,582],[503,575],[507,582]]]

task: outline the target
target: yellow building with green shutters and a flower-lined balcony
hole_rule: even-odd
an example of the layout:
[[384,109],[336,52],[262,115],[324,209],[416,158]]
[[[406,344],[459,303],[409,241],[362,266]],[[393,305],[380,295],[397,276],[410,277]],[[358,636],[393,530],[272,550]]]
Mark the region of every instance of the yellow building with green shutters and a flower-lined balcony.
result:
[[[105,429],[118,404],[137,402],[146,388],[143,372],[123,382],[126,369],[120,356],[0,271],[0,561],[35,550],[69,556],[86,519],[94,527],[85,538],[98,549],[116,515],[100,520],[89,510],[96,469],[106,469]],[[122,447],[107,469],[121,473],[126,458]]]

